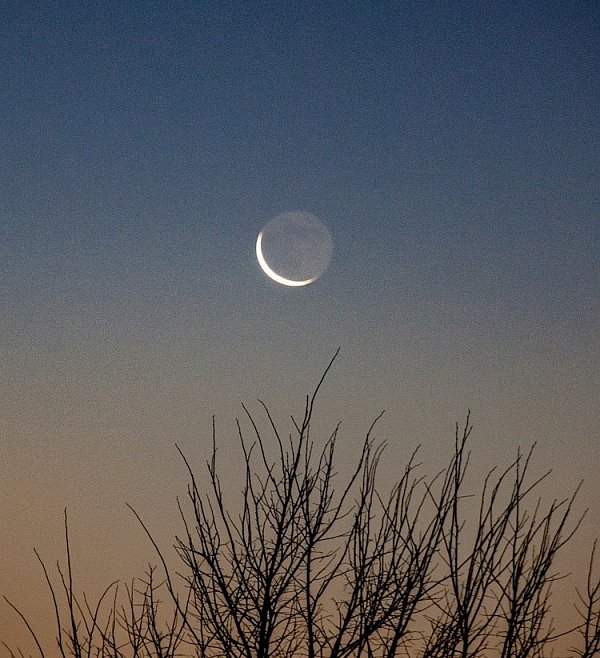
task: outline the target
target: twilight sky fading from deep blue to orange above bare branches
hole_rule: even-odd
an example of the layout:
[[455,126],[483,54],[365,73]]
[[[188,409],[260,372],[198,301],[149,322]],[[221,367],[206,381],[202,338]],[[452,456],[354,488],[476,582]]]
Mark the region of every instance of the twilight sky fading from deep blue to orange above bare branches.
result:
[[[385,409],[385,477],[433,470],[470,409],[482,471],[537,442],[549,495],[585,480],[587,554],[598,3],[9,0],[0,81],[0,593],[42,637],[65,508],[82,589],[141,575],[126,503],[172,542],[175,444],[201,468],[214,414],[233,486],[241,403],[285,425],[338,347],[342,468]],[[288,288],[254,245],[297,211],[333,256]]]

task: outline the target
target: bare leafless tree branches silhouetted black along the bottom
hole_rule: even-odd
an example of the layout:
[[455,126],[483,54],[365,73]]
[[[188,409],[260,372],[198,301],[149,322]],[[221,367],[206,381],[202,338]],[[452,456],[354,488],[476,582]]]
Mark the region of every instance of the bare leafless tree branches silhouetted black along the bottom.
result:
[[555,558],[581,522],[571,520],[577,491],[544,505],[535,496],[548,473],[531,478],[533,449],[518,453],[487,475],[470,525],[468,417],[447,467],[432,477],[419,475],[415,451],[383,492],[376,419],[354,470],[340,478],[339,426],[321,448],[311,437],[332,363],[288,437],[266,405],[267,431],[244,407],[251,437],[238,422],[245,469],[237,503],[223,490],[214,422],[206,491],[180,451],[189,484],[178,503],[176,569],[133,510],[162,573],[149,567],[124,587],[112,583],[92,605],[74,592],[65,514],[67,569],[59,567],[58,586],[38,556],[63,658],[537,658],[567,633],[577,643],[572,656],[600,655],[595,546],[578,591],[581,623],[557,630],[550,617]]

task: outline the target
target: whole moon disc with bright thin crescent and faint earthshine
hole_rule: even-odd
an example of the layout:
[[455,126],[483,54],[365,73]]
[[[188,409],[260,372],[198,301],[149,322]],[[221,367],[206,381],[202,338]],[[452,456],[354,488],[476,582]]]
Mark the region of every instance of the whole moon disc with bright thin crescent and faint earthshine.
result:
[[258,264],[284,286],[307,286],[316,281],[327,269],[332,252],[329,229],[305,211],[277,215],[256,238]]

